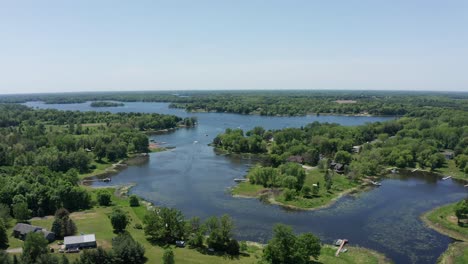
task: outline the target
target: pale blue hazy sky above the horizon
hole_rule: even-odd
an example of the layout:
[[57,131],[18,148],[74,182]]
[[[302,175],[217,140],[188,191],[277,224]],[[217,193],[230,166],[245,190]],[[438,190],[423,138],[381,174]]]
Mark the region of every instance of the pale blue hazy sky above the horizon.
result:
[[0,0],[0,94],[468,91],[465,0]]

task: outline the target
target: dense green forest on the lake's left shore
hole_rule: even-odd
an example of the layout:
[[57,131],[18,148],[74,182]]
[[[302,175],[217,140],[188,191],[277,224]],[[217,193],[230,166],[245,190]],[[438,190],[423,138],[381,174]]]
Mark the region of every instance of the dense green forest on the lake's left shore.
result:
[[93,170],[103,159],[115,162],[148,152],[145,131],[195,122],[159,114],[0,105],[0,203],[11,205],[21,219],[61,207],[87,208],[90,197],[78,186],[79,173]]

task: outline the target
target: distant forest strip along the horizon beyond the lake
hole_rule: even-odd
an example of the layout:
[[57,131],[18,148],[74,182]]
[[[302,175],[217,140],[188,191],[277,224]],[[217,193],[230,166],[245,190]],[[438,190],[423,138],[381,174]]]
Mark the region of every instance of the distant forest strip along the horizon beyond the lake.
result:
[[5,95],[4,103],[44,101],[169,102],[187,111],[213,111],[259,115],[370,114],[403,116],[416,109],[468,110],[466,93],[397,91],[184,91]]

